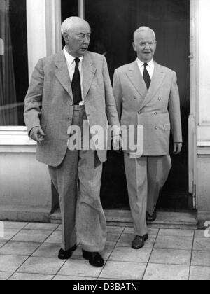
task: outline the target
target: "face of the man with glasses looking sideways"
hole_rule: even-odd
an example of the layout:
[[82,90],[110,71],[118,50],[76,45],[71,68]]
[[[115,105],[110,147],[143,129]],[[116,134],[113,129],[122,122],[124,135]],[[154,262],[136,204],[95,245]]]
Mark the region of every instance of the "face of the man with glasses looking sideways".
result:
[[69,54],[75,58],[84,56],[90,44],[90,34],[90,27],[87,23],[82,23],[65,33],[64,40]]

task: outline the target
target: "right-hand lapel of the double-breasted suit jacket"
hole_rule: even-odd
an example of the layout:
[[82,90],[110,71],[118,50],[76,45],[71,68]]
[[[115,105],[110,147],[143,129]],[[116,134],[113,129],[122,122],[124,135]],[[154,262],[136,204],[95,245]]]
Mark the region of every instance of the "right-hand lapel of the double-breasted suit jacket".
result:
[[146,106],[146,104],[148,104],[148,102],[150,102],[153,99],[156,92],[158,92],[160,85],[162,85],[164,78],[165,78],[165,71],[163,66],[160,66],[159,64],[155,62],[155,70],[153,73],[153,78],[151,80],[151,86],[146,94],[146,97],[143,103],[141,104],[141,109],[143,109],[143,107]]

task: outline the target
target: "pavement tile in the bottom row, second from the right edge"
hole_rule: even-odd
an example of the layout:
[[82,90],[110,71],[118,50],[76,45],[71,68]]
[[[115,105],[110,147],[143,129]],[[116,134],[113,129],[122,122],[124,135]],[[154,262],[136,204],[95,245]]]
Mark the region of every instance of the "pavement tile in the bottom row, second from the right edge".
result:
[[188,280],[190,267],[186,265],[148,264],[144,280]]

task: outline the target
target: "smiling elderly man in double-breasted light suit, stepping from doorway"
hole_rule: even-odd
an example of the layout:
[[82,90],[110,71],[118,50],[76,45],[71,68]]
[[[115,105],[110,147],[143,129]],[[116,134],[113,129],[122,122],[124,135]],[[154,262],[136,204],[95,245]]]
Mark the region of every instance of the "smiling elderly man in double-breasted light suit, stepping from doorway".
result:
[[[113,92],[121,125],[143,126],[143,154],[131,156],[125,150],[125,172],[134,219],[136,238],[132,248],[139,249],[148,239],[146,221],[155,221],[160,189],[172,167],[169,155],[170,130],[174,154],[182,148],[181,114],[176,73],[153,61],[155,32],[140,27],[134,33],[137,60],[116,69]],[[133,154],[132,154],[133,155]]]

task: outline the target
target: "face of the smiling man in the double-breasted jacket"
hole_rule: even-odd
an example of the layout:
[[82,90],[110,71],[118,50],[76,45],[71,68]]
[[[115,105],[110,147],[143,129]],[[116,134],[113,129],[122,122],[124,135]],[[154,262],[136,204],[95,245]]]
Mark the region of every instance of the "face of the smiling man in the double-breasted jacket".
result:
[[139,31],[134,39],[134,51],[141,62],[151,62],[155,54],[157,42],[152,31]]

